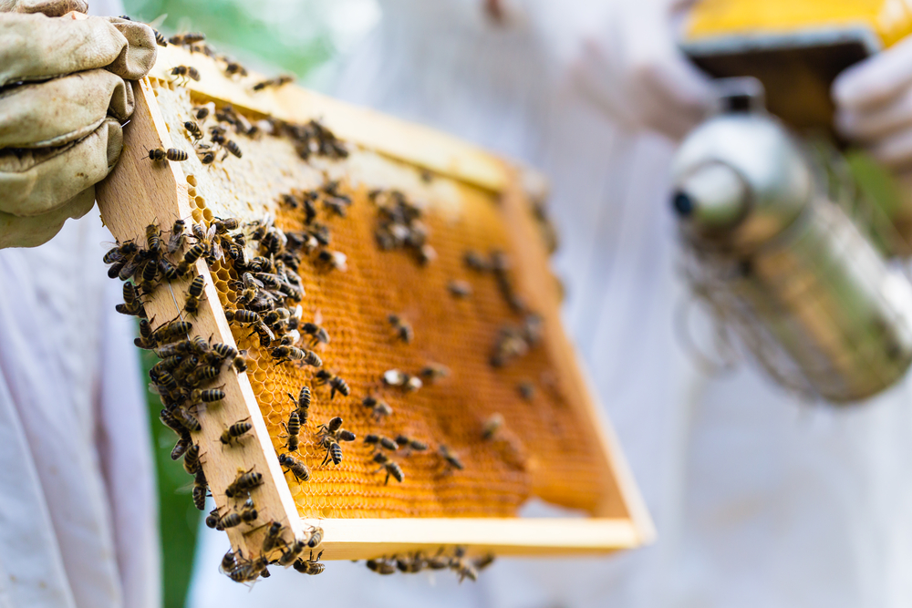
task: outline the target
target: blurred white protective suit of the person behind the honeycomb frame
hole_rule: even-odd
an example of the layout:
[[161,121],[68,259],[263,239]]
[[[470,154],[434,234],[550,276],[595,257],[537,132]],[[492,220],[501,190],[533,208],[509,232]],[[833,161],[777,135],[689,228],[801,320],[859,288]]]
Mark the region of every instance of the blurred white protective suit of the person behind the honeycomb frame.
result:
[[672,146],[618,127],[567,77],[581,32],[611,3],[516,0],[503,26],[482,4],[387,0],[340,95],[549,177],[565,323],[658,541],[604,559],[504,559],[461,586],[447,574],[378,577],[348,562],[318,577],[274,568],[247,593],[216,572],[227,539],[203,531],[189,605],[912,604],[912,386],[835,410],[800,403],[750,365],[701,373],[674,327],[687,294],[668,203]]

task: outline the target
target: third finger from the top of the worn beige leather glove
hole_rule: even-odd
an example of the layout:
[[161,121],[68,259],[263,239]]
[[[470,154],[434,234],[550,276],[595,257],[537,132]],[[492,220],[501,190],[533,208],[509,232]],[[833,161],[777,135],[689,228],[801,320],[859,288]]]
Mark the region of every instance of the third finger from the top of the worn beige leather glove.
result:
[[59,148],[6,149],[0,153],[0,211],[47,213],[103,180],[123,147],[116,119],[105,119],[88,137]]

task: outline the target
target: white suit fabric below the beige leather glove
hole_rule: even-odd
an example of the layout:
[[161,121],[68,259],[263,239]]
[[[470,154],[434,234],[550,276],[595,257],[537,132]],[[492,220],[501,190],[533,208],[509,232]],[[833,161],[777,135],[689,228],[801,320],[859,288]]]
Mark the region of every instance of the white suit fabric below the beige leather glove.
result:
[[0,250],[0,608],[161,605],[149,421],[134,320],[101,261],[111,241],[90,211],[40,247]]

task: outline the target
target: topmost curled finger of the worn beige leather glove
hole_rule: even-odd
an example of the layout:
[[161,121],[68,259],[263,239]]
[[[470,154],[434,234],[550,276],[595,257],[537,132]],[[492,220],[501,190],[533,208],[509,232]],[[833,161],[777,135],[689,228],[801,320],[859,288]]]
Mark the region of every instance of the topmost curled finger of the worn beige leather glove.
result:
[[[135,48],[121,30],[137,43]],[[155,35],[143,24],[115,25],[108,17],[0,13],[0,87],[98,67],[138,78],[152,67],[155,53]]]

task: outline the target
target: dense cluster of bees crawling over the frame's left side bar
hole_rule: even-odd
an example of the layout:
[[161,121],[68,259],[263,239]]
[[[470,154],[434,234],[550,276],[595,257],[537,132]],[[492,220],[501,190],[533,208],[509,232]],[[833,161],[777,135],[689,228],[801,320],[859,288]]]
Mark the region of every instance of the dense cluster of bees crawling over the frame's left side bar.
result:
[[[205,287],[202,274],[192,279],[183,296],[182,314],[171,321],[154,326],[155,320],[148,318],[143,301],[154,294],[162,283],[189,277],[200,259],[209,264],[230,260],[242,277],[235,287],[241,294],[238,303],[244,308],[228,309],[226,316],[234,324],[253,327],[254,334],[260,336],[261,345],[268,345],[267,352],[277,362],[301,360],[310,365],[321,365],[318,357],[315,360],[306,355],[309,351],[294,346],[300,340],[298,327],[320,339],[328,340],[328,336],[322,328],[313,324],[297,323],[300,306],[296,315],[289,314],[285,308],[300,302],[304,294],[300,277],[294,270],[301,261],[295,246],[287,246],[289,241],[300,241],[295,241],[294,235],[286,236],[268,221],[252,222],[242,227],[241,222],[233,218],[216,220],[208,229],[195,223],[189,231],[186,228],[186,222],[178,220],[165,238],[158,225],[150,224],[146,228],[144,243],[119,243],[105,254],[104,262],[109,264],[111,278],[125,281],[124,302],[118,304],[118,312],[140,318],[140,337],[136,338],[136,345],[152,350],[160,358],[150,369],[150,387],[161,397],[161,421],[177,435],[171,459],[183,458],[184,469],[194,479],[193,504],[197,509],[204,510],[209,489],[202,470],[200,444],[194,441],[194,434],[202,431],[198,414],[202,409],[218,407],[225,398],[222,387],[214,386],[218,378],[226,370],[244,373],[248,360],[245,353],[238,352],[231,345],[212,344],[211,340],[202,336],[192,336],[192,322],[181,318],[183,314],[192,317],[199,312]],[[248,242],[255,243],[255,252],[263,254],[249,256]],[[306,421],[309,400],[309,389],[302,389],[299,407],[293,417],[300,420],[303,416]],[[289,424],[289,432],[295,430],[296,437],[297,430],[291,427],[292,424]],[[252,428],[248,419],[238,420],[225,428],[221,435],[223,447],[242,446],[244,439],[250,437]],[[280,459],[283,466],[291,469],[299,479],[309,478],[309,471],[303,463],[287,455],[282,455]],[[240,552],[230,552],[223,560],[223,572],[238,582],[252,582],[259,576],[268,576],[266,566],[270,563],[294,566],[295,570],[308,574],[322,572],[323,564],[318,563],[320,556],[315,559],[311,553],[306,559],[303,553],[307,548],[313,550],[319,545],[323,532],[314,528],[307,532],[305,539],[285,541],[282,524],[261,522],[254,492],[262,484],[262,473],[253,469],[239,470],[225,489],[226,498],[235,503],[234,508],[224,513],[219,509],[212,510],[206,518],[207,525],[218,530],[242,524],[250,526],[250,530],[269,525],[260,556],[249,559]],[[279,556],[270,560],[267,555],[275,551],[279,552]]]

